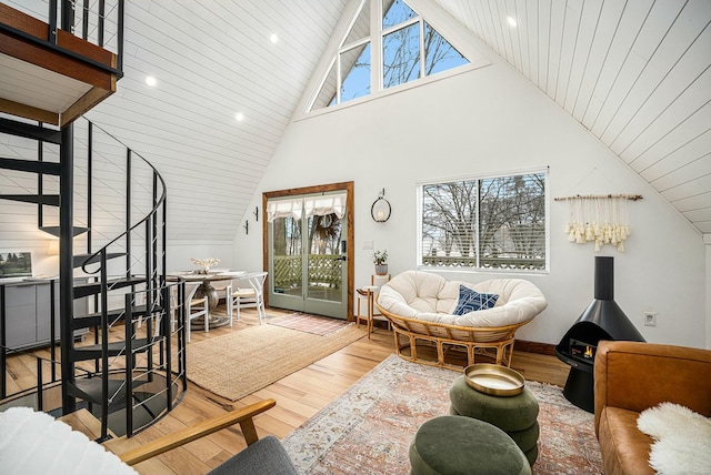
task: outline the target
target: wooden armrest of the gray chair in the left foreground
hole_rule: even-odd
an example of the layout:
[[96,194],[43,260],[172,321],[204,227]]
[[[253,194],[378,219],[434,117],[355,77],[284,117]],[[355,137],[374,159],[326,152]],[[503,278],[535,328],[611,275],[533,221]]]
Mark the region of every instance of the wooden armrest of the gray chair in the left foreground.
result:
[[251,445],[259,438],[252,418],[256,415],[272,408],[274,405],[277,405],[277,402],[271,398],[250,404],[247,407],[209,418],[193,426],[159,437],[141,445],[140,447],[127,451],[123,454],[120,454],[119,458],[128,465],[136,465],[140,462],[147,461],[148,458],[154,457],[156,455],[172,451],[173,448],[180,447],[181,445],[196,441],[200,437],[204,437],[206,435],[210,435],[213,432],[221,431],[237,423],[240,424],[247,444]]

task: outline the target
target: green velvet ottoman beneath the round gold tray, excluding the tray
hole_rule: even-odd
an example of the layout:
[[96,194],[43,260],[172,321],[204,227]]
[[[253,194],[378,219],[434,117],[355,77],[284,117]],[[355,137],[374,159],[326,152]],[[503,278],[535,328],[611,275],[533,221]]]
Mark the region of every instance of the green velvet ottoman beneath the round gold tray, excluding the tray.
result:
[[458,377],[449,391],[450,414],[473,417],[493,424],[505,432],[523,451],[529,463],[538,458],[538,401],[528,387],[515,396],[492,396],[480,393]]

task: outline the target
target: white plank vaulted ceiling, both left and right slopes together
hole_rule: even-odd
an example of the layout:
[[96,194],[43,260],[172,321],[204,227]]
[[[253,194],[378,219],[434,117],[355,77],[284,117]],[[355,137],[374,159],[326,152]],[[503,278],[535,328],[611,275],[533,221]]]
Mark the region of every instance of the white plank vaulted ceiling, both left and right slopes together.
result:
[[[411,6],[423,1],[470,29],[711,234],[711,1]],[[46,0],[6,3],[38,18],[47,11]],[[126,75],[88,115],[180,190],[171,193],[171,239],[234,236],[348,3],[127,0]]]

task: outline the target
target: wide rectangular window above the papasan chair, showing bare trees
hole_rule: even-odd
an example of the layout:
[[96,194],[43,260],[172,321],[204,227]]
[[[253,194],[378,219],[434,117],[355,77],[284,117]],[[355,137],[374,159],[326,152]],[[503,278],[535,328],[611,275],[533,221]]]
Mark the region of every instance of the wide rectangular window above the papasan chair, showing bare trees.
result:
[[420,184],[419,265],[547,271],[547,178]]

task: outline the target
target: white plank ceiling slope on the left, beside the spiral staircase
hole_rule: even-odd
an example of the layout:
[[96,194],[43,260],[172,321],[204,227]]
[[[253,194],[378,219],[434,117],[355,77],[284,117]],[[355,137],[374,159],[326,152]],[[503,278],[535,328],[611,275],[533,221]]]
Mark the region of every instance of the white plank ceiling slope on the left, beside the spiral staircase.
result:
[[88,117],[158,164],[171,239],[241,230],[344,3],[127,2],[126,77]]

